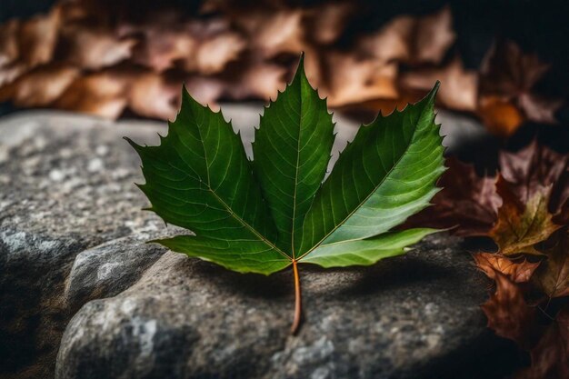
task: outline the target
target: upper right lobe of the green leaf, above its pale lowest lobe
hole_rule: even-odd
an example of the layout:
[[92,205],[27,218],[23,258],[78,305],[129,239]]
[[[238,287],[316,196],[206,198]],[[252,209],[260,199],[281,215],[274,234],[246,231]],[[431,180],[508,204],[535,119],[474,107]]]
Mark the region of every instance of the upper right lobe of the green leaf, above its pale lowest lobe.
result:
[[[433,91],[403,112],[360,128],[306,214],[298,248],[382,234],[429,205],[444,172]],[[302,256],[302,255],[301,255]]]

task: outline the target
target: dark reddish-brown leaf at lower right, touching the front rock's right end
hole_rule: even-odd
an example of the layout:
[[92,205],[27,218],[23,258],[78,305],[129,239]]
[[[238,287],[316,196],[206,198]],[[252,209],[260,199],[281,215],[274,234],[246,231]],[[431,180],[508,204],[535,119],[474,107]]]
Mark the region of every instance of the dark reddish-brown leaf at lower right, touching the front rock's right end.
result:
[[494,276],[496,291],[481,305],[488,327],[527,349],[536,334],[535,308],[525,303],[521,289],[507,276],[499,272]]

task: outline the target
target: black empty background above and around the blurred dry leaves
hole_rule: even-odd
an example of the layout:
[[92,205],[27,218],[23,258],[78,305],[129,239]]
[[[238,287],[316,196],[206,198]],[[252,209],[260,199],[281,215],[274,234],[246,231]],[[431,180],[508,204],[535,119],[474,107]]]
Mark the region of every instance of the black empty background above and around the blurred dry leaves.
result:
[[[235,0],[233,0],[235,1]],[[290,5],[314,5],[322,1],[290,1]],[[526,53],[536,53],[551,65],[537,90],[552,97],[569,98],[569,1],[530,0],[354,0],[359,10],[347,26],[340,44],[349,46],[354,36],[362,31],[378,29],[395,15],[424,15],[450,5],[457,33],[455,49],[468,68],[480,66],[485,53],[495,39],[507,38],[520,45]],[[117,18],[136,17],[157,6],[175,5],[181,12],[195,14],[202,2],[190,0],[99,0],[97,6],[113,9]],[[246,7],[258,1],[238,1]],[[270,4],[268,0],[266,3]],[[54,0],[0,0],[0,22],[12,17],[26,18],[44,13]],[[455,51],[449,50],[449,54]],[[14,112],[9,104],[0,104],[0,115]],[[514,136],[499,140],[492,136],[482,141],[469,142],[460,158],[474,162],[484,171],[495,168],[498,148],[516,150],[537,138],[560,152],[569,151],[569,107],[557,113],[560,125],[526,123]]]

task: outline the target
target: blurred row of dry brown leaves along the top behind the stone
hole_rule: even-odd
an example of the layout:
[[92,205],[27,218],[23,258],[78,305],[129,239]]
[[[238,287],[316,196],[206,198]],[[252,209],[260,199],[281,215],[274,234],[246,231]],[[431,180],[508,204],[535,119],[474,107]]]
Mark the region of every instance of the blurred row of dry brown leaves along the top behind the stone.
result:
[[136,17],[117,12],[121,3],[61,0],[47,15],[0,25],[0,102],[168,118],[182,82],[202,103],[275,96],[304,51],[307,75],[333,107],[391,112],[440,79],[440,105],[510,135],[526,119],[554,123],[562,103],[534,93],[548,65],[512,43],[496,42],[478,70],[464,69],[448,7],[398,16],[346,49],[338,41],[359,11],[351,1],[209,0],[196,15],[165,7]]

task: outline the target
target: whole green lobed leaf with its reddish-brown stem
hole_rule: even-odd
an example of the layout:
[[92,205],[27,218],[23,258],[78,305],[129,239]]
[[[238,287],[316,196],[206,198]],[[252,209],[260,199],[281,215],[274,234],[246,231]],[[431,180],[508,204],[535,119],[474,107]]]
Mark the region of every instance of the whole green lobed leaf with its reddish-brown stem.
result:
[[253,162],[223,115],[184,92],[160,145],[129,140],[142,159],[140,188],[150,210],[195,233],[155,242],[241,273],[272,274],[292,265],[295,330],[298,264],[374,264],[434,233],[392,229],[438,191],[444,149],[434,124],[437,87],[403,113],[362,126],[324,184],[334,124],[302,59],[292,83],[265,109]]

